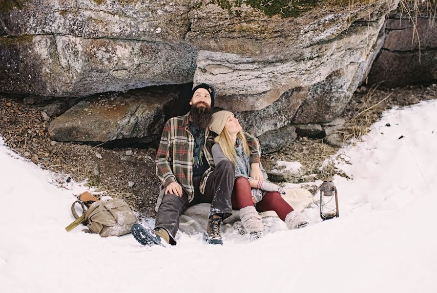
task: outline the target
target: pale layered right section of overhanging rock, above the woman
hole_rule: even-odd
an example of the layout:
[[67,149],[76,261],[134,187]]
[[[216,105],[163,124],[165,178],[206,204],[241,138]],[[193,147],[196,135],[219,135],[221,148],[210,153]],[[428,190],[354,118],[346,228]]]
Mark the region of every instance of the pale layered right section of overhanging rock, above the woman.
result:
[[[365,80],[381,46],[379,32],[397,4],[374,1],[370,21],[363,3],[295,19],[266,19],[244,5],[240,17],[229,18],[214,5],[201,6],[187,34],[199,48],[194,84],[214,84],[215,105],[237,112],[255,135],[329,122]],[[285,105],[291,91],[296,98]]]

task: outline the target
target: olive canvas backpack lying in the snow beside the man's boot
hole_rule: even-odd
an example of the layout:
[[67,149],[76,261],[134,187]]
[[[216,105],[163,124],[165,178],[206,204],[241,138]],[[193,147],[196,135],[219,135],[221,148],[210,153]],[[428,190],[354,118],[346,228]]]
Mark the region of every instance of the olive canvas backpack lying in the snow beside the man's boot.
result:
[[123,199],[93,202],[88,209],[83,201],[77,200],[71,206],[73,216],[79,215],[75,205],[79,203],[83,209],[82,223],[88,226],[86,232],[97,233],[102,237],[121,236],[130,233],[130,228],[137,223],[137,217]]

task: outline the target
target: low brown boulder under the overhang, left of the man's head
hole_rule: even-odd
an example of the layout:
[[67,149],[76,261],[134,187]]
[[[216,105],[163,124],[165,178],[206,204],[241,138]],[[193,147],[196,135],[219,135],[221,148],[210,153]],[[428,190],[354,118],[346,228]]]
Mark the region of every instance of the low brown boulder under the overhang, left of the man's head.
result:
[[53,120],[49,134],[55,141],[149,143],[161,136],[166,119],[181,114],[175,106],[187,90],[152,87],[86,98]]

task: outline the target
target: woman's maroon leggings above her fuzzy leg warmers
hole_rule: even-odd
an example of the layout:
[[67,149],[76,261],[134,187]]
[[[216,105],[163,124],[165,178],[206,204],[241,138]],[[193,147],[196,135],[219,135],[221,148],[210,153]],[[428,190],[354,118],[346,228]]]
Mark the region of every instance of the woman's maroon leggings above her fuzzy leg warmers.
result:
[[[252,194],[250,193],[250,183],[246,177],[235,179],[234,188],[232,189],[232,209],[243,209],[253,206]],[[274,210],[282,221],[293,211],[293,208],[282,198],[279,192],[269,191],[263,196],[263,199],[256,204],[258,212]]]

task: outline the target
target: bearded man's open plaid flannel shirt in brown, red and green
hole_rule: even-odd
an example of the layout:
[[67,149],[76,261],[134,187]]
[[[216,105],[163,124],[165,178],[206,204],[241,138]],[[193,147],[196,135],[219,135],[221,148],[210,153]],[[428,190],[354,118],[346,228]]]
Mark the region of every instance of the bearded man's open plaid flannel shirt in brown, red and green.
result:
[[[205,130],[204,154],[209,168],[203,174],[200,192],[205,192],[205,184],[214,169],[211,147],[217,134]],[[260,146],[258,140],[251,136],[248,139],[250,163],[260,162]],[[193,151],[194,137],[189,129],[189,112],[185,116],[170,118],[164,126],[161,142],[156,152],[156,175],[167,187],[172,182],[179,183],[187,191],[188,201],[194,198],[193,187]]]

